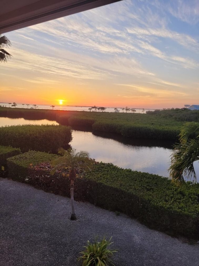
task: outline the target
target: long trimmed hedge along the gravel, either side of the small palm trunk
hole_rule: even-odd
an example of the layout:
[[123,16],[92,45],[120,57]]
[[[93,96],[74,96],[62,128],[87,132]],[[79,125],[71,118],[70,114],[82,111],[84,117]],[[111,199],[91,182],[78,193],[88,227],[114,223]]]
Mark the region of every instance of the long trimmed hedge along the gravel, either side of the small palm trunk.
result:
[[[25,172],[19,181],[25,179],[44,191],[70,196],[68,167],[53,176],[49,176],[50,170],[49,164],[31,167],[28,177]],[[76,200],[117,210],[170,235],[199,239],[199,184],[188,182],[178,188],[158,175],[99,163],[92,172],[79,173],[74,191]]]

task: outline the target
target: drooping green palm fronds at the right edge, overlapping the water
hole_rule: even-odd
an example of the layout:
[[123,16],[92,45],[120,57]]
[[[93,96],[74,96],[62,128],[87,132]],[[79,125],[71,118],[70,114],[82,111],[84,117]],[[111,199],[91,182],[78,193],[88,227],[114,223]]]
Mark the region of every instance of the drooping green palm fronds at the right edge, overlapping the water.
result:
[[199,160],[199,123],[187,122],[179,134],[180,143],[174,145],[171,155],[170,177],[177,185],[184,182],[184,176],[196,181],[193,162]]

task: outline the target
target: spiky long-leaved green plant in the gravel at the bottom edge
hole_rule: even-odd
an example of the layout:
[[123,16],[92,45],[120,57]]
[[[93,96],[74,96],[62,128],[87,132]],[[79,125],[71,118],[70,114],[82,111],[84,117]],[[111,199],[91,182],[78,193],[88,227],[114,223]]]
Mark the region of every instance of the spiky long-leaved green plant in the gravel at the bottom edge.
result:
[[109,249],[109,246],[113,244],[111,242],[112,237],[107,241],[105,237],[100,241],[92,244],[90,241],[87,241],[87,245],[84,246],[85,250],[81,251],[78,260],[83,260],[82,266],[107,266],[109,264],[113,265],[112,259],[114,252],[117,252],[116,249]]

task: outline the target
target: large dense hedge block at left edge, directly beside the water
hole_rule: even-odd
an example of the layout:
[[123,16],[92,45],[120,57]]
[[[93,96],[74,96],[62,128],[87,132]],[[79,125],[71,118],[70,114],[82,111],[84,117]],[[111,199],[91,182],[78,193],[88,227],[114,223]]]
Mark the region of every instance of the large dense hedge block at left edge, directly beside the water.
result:
[[0,145],[20,148],[21,152],[36,150],[54,152],[72,140],[70,127],[61,125],[17,125],[0,127]]

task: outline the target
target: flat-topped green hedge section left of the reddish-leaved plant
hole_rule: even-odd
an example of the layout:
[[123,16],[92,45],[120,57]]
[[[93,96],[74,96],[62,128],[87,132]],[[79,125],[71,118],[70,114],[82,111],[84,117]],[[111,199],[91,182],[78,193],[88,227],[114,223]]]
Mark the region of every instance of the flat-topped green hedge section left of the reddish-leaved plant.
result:
[[7,159],[8,177],[21,182],[29,175],[29,168],[41,162],[57,159],[57,155],[46,152],[29,151]]

